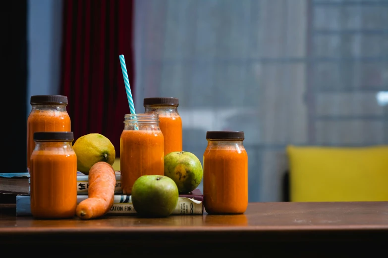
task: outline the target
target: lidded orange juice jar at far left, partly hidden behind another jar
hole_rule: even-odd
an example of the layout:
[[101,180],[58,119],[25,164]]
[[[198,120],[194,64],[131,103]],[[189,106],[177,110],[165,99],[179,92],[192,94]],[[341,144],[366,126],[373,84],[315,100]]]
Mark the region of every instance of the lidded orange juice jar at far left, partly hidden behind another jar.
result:
[[27,170],[31,168],[31,153],[35,148],[36,131],[71,131],[66,111],[67,97],[62,95],[31,96],[31,112],[27,119]]

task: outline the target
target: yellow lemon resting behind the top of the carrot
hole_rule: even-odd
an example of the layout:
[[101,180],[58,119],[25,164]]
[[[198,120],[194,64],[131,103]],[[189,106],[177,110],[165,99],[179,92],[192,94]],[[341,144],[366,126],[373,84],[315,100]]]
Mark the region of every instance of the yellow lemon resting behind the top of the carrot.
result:
[[111,141],[102,134],[89,133],[79,137],[73,144],[77,155],[77,170],[89,174],[90,168],[104,161],[113,165],[116,152]]

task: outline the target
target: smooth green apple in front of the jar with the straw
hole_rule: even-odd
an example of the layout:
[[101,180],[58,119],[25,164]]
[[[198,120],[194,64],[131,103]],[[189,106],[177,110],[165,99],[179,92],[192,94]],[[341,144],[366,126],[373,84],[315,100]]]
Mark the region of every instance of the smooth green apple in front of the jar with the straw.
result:
[[164,175],[142,175],[132,186],[132,204],[136,213],[146,217],[166,217],[178,203],[178,187]]

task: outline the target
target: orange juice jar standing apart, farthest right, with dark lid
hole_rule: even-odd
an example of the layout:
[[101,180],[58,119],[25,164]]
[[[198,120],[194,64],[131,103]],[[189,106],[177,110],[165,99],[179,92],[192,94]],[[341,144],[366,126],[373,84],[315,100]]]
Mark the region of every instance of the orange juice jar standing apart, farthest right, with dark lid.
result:
[[209,214],[242,214],[248,206],[248,155],[243,131],[208,131],[203,156],[204,206]]

